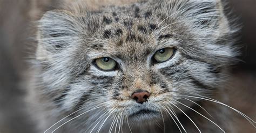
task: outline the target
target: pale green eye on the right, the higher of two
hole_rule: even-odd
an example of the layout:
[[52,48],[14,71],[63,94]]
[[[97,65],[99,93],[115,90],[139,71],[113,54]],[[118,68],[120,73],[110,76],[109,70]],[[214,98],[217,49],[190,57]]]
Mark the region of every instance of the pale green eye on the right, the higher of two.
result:
[[174,54],[174,48],[163,48],[154,54],[154,60],[158,63],[169,60]]

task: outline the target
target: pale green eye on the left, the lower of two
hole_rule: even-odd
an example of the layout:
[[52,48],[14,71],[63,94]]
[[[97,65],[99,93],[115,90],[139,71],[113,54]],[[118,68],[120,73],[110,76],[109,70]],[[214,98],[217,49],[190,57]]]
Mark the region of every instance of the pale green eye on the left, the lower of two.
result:
[[114,68],[116,68],[117,63],[109,57],[102,57],[95,60],[95,64],[99,69],[105,70],[105,71],[111,71]]

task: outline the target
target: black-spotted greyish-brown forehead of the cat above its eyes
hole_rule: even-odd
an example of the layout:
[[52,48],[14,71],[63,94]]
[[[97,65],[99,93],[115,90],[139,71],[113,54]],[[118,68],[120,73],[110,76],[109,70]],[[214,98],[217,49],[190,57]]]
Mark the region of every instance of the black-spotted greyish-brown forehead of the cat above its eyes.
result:
[[91,36],[98,41],[89,47],[117,56],[143,56],[156,50],[157,26],[163,17],[158,8],[149,3],[136,3],[91,12],[91,23],[98,24]]

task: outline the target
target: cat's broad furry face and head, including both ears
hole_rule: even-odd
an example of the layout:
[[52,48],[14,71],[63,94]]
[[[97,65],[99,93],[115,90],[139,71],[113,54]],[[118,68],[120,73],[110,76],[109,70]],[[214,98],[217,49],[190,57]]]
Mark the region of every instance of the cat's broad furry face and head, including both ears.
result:
[[40,82],[60,112],[93,109],[85,115],[90,120],[162,119],[162,112],[180,112],[180,102],[191,106],[186,95],[216,90],[235,56],[220,2],[76,10],[49,11],[38,25]]

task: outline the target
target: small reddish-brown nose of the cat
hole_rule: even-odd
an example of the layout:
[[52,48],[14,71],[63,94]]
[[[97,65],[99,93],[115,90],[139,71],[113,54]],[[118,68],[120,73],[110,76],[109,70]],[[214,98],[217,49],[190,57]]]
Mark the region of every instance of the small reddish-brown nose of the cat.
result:
[[143,90],[137,90],[132,94],[132,99],[136,100],[139,104],[143,104],[149,97],[150,93]]

